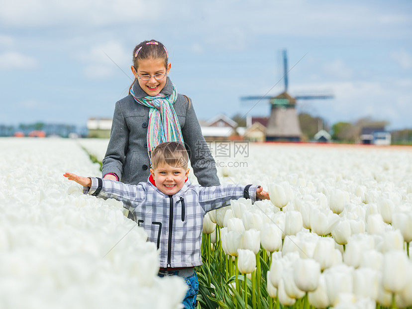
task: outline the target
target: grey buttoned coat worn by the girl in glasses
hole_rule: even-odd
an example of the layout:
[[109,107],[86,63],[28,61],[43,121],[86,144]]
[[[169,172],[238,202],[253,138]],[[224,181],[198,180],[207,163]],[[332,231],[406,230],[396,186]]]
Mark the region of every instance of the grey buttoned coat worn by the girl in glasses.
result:
[[[138,81],[133,86],[137,98],[147,94]],[[172,94],[169,77],[161,93]],[[186,150],[195,176],[202,186],[219,185],[213,157],[202,135],[193,104],[188,97],[178,94],[173,107],[179,119]],[[137,184],[146,181],[150,174],[147,153],[147,125],[149,108],[138,104],[131,95],[116,102],[110,141],[103,159],[103,176],[115,173],[121,182]]]

